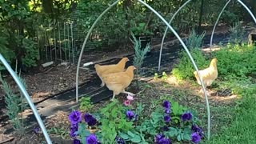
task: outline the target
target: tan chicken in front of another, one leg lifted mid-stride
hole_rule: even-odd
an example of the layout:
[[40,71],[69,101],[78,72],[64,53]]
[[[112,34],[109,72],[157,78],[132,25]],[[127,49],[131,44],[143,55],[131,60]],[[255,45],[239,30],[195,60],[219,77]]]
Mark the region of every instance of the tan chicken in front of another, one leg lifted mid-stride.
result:
[[120,93],[129,94],[131,96],[135,95],[125,90],[134,79],[134,70],[136,70],[134,66],[129,66],[126,71],[106,74],[102,77],[102,80],[106,83],[106,87],[113,91],[112,101],[114,100],[114,96]]

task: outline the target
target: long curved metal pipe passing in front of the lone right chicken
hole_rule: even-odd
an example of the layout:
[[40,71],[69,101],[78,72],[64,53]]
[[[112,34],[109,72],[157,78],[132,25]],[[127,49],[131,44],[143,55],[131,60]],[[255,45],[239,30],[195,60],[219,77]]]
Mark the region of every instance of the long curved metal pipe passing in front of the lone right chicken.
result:
[[202,76],[199,73],[198,66],[195,64],[194,59],[191,56],[190,51],[187,49],[185,43],[182,41],[182,38],[180,38],[179,35],[174,30],[174,28],[172,26],[170,26],[170,24],[168,22],[166,22],[166,19],[162,18],[162,16],[160,14],[158,14],[158,12],[156,10],[154,10],[151,6],[149,6],[146,2],[143,2],[142,0],[137,0],[137,1],[141,2],[144,6],[146,6],[148,9],[150,9],[152,12],[154,12],[154,14],[156,14],[158,16],[158,18],[160,18],[162,20],[162,22],[164,22],[166,24],[166,26],[168,26],[170,28],[170,30],[178,38],[179,42],[181,42],[183,48],[186,50],[186,53],[190,57],[190,60],[191,60],[191,62],[193,64],[193,66],[194,66],[194,69],[198,72],[200,82],[202,83],[202,90],[203,90],[203,92],[205,94],[205,98],[206,98],[206,107],[207,107],[207,114],[208,114],[208,130],[207,130],[208,137],[207,138],[209,140],[210,139],[210,106],[209,106],[208,97],[207,97],[207,94],[206,94],[206,87],[205,87],[205,85],[202,82]]

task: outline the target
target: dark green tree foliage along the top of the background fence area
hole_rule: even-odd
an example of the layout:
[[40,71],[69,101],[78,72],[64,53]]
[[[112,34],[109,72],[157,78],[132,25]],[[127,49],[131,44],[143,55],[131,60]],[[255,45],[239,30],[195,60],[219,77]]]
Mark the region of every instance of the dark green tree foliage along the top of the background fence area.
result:
[[[77,20],[81,24],[82,37],[89,30],[95,18],[102,13],[114,0],[0,0],[0,52],[11,63],[18,59],[24,66],[36,66],[38,64],[39,46],[37,45],[37,30],[39,26],[47,26],[49,22],[62,22],[63,20]],[[145,0],[166,19],[185,0]],[[201,0],[193,0],[186,6],[173,25],[178,32],[188,32],[192,27],[197,27],[200,19]],[[202,24],[213,25],[219,11],[226,1],[205,1],[202,10]],[[253,0],[245,0],[250,9],[256,7]],[[254,14],[255,14],[254,9]],[[222,23],[233,26],[237,20],[251,21],[250,15],[238,2],[231,2],[221,18]],[[101,38],[94,44],[102,49],[116,49],[127,45],[130,30],[138,34],[150,34],[153,37],[161,36],[165,25],[145,6],[135,0],[123,0],[114,6],[108,14],[98,23],[94,34]],[[169,34],[170,36],[171,34]],[[90,42],[89,42],[90,43]],[[95,42],[94,42],[95,43]],[[113,48],[113,46],[116,46]],[[29,55],[27,55],[29,54]],[[3,67],[0,66],[0,70]]]

